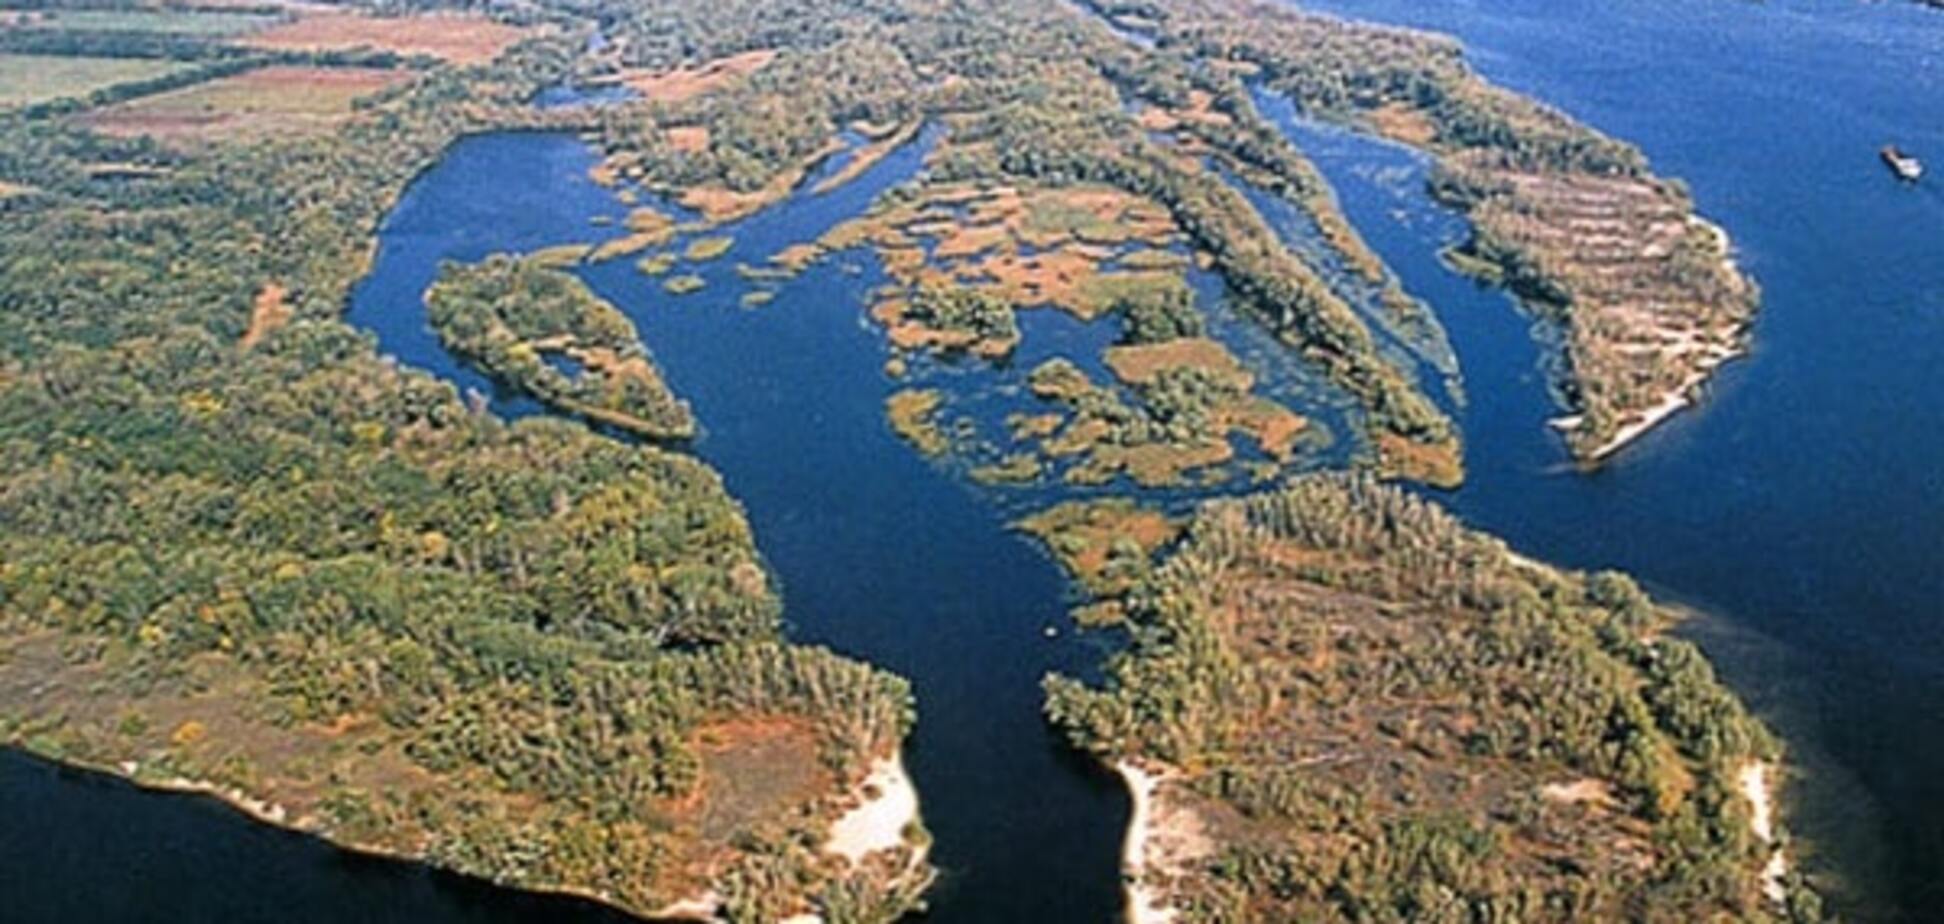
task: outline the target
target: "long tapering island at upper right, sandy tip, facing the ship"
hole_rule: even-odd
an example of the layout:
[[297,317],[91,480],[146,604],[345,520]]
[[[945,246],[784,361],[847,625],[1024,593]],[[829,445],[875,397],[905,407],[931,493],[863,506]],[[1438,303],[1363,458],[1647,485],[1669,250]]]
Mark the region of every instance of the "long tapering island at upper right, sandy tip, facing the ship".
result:
[[[1695,401],[1748,348],[1755,284],[1726,231],[1633,146],[1481,80],[1450,39],[1254,0],[1091,8],[1306,117],[1429,154],[1472,237],[1464,272],[1510,288],[1557,342],[1553,422],[1596,465]],[[1231,88],[1223,105],[1238,107]]]

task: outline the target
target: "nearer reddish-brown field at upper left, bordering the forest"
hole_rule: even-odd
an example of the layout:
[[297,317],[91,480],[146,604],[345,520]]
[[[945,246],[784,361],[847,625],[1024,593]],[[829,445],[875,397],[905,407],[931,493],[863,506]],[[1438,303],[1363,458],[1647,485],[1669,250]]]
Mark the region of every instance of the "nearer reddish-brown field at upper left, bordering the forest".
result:
[[262,68],[134,99],[86,117],[99,132],[156,138],[270,138],[323,132],[352,101],[408,74],[377,68]]

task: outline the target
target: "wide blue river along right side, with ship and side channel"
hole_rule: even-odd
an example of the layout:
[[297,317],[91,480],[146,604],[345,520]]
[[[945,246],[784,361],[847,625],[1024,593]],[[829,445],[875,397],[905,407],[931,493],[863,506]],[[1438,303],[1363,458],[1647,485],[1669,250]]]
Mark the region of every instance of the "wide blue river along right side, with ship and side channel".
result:
[[[1462,39],[1495,82],[1691,183],[1763,288],[1753,354],[1594,475],[1565,465],[1528,319],[1446,270],[1462,222],[1423,163],[1267,107],[1458,350],[1468,480],[1439,498],[1512,547],[1621,568],[1715,617],[1724,677],[1798,761],[1794,829],[1835,908],[1944,901],[1944,195],[1876,161],[1944,154],[1944,21],[1919,4],[1326,0]],[[1820,856],[1818,856],[1820,854]]]

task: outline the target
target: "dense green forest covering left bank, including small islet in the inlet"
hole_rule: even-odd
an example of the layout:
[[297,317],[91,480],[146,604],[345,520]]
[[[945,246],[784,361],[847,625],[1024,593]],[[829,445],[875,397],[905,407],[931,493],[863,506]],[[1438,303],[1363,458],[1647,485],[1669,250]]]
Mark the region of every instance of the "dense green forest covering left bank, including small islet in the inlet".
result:
[[[0,737],[642,914],[713,893],[735,920],[896,916],[921,848],[851,868],[822,836],[900,747],[910,691],[783,642],[721,480],[502,422],[340,319],[453,140],[572,124],[527,101],[573,47],[426,68],[329,132],[183,146],[0,113],[25,191],[0,210]],[[435,302],[482,356],[564,335],[634,375],[531,383],[546,397],[686,422],[566,276],[490,261]],[[795,772],[704,829],[698,796],[743,755]]]

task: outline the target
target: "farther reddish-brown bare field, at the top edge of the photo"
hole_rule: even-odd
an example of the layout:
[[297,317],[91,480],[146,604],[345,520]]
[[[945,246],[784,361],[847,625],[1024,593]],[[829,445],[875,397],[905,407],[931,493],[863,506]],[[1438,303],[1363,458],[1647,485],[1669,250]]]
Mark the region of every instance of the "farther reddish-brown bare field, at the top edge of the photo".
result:
[[478,16],[397,16],[317,12],[276,25],[243,41],[268,51],[377,49],[399,54],[432,54],[453,64],[484,64],[527,31]]

